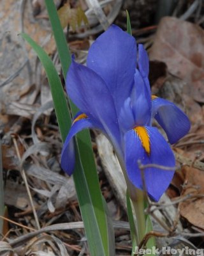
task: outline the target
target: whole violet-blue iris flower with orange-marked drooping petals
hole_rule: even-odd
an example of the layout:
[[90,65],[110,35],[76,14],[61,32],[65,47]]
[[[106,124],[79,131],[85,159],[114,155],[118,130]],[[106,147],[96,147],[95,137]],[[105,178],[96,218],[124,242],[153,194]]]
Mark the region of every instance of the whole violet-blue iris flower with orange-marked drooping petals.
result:
[[[75,166],[73,136],[82,129],[102,131],[112,142],[128,179],[136,188],[143,182],[142,164],[174,167],[175,157],[168,142],[152,127],[152,118],[163,127],[170,143],[190,128],[189,119],[175,104],[150,94],[149,58],[135,38],[117,26],[110,26],[91,45],[87,67],[74,60],[66,77],[69,97],[81,110],[62,148],[61,166],[71,175]],[[168,188],[173,171],[146,168],[147,192],[159,200]]]

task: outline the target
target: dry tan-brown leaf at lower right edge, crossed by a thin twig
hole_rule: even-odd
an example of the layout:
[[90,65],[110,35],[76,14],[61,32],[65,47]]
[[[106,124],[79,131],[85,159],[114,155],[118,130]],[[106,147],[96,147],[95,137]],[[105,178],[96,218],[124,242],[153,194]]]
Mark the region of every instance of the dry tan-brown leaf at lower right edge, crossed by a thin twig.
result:
[[[182,172],[185,175],[187,187],[184,195],[204,194],[204,172],[196,168],[184,166]],[[204,198],[186,200],[180,203],[180,214],[191,224],[204,229]]]

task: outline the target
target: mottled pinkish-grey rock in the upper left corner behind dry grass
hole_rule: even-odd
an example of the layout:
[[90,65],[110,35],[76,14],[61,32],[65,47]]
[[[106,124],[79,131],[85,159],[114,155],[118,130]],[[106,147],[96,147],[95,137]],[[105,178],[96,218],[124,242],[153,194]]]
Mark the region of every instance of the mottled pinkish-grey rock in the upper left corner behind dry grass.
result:
[[[32,105],[39,93],[36,83],[33,83],[32,72],[35,68],[36,54],[29,51],[31,69],[28,70],[27,54],[24,49],[21,32],[21,19],[24,18],[24,31],[28,33],[38,44],[45,47],[48,54],[54,52],[54,38],[47,40],[51,32],[48,31],[50,24],[48,20],[33,21],[32,10],[26,1],[25,10],[22,10],[24,1],[3,0],[0,10],[0,126],[7,131],[10,129],[10,116],[21,115],[31,118],[34,113]],[[22,5],[21,5],[22,4]],[[23,15],[24,13],[24,15]],[[43,24],[41,23],[43,22]],[[45,22],[47,22],[45,24]],[[26,44],[26,47],[31,49]],[[10,115],[10,116],[7,116]],[[2,119],[4,117],[4,119]],[[6,124],[6,119],[8,124]],[[8,126],[9,125],[9,126]]]

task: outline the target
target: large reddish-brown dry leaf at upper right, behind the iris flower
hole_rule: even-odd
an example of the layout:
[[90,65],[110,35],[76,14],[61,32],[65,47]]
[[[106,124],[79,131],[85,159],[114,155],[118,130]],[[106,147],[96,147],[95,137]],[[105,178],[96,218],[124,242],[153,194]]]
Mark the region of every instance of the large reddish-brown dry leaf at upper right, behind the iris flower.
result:
[[150,60],[164,61],[174,76],[186,81],[186,93],[204,102],[204,31],[199,26],[164,17],[157,28]]

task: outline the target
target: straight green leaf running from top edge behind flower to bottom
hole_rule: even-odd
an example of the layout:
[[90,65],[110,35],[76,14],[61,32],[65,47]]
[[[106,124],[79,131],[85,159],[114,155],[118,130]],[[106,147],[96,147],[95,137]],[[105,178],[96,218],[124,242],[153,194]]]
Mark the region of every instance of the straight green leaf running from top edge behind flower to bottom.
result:
[[[57,15],[57,10],[53,0],[45,0],[47,6],[48,15],[50,22],[52,24],[52,30],[55,37],[55,42],[57,45],[57,51],[59,53],[59,58],[61,60],[62,70],[64,78],[68,72],[68,67],[70,65],[71,56],[68,51],[68,44],[65,40],[64,33],[61,28],[61,22]],[[68,57],[69,55],[69,57]],[[71,111],[73,115],[78,111],[77,107],[70,100]],[[85,178],[87,180],[87,185],[89,188],[89,193],[91,195],[92,205],[94,207],[94,212],[96,214],[96,219],[98,221],[98,227],[101,234],[101,239],[103,241],[103,246],[105,249],[105,255],[110,255],[109,253],[109,241],[108,241],[108,227],[105,209],[103,207],[103,198],[101,195],[98,173],[96,170],[96,164],[94,162],[94,156],[92,153],[91,136],[89,131],[82,131],[77,134],[77,145],[80,153],[80,160],[84,168]],[[85,223],[84,223],[85,225]]]

